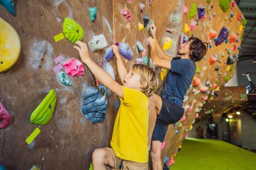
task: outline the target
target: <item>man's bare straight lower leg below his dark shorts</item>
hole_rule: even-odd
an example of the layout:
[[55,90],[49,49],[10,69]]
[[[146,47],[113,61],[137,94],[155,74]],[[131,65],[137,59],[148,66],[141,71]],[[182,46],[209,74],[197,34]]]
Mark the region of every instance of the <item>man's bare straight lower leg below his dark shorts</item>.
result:
[[159,140],[153,140],[151,142],[150,156],[152,160],[152,170],[162,170],[162,161],[161,161],[161,146],[162,142]]

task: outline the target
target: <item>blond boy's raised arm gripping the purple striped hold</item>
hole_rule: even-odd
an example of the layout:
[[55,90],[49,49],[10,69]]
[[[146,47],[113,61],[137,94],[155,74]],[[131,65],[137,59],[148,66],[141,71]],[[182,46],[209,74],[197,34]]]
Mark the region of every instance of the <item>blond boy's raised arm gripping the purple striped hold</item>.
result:
[[123,61],[121,59],[118,47],[116,45],[112,45],[110,48],[113,48],[113,52],[117,58],[118,74],[123,84],[123,79],[124,79],[124,76],[127,75],[127,70],[123,65]]

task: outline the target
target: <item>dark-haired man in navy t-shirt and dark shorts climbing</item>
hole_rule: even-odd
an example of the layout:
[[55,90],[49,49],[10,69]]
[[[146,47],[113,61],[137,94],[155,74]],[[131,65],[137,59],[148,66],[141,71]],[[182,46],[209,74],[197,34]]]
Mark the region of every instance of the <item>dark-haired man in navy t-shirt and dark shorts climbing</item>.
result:
[[151,143],[151,159],[153,170],[162,170],[161,145],[169,124],[175,124],[184,113],[183,98],[192,83],[196,71],[196,61],[200,61],[207,51],[207,43],[196,37],[190,37],[188,42],[178,49],[180,57],[170,58],[165,55],[156,40],[156,27],[151,25],[149,44],[151,57],[155,67],[170,69],[166,75],[160,96],[154,94],[150,98],[149,141],[155,124]]

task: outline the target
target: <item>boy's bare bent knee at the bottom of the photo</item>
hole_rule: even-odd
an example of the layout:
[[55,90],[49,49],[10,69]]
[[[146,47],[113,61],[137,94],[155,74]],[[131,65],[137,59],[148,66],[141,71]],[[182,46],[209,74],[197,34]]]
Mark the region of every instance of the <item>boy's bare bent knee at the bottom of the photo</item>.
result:
[[98,148],[92,154],[93,170],[106,170],[106,165],[115,168],[111,152],[105,148]]

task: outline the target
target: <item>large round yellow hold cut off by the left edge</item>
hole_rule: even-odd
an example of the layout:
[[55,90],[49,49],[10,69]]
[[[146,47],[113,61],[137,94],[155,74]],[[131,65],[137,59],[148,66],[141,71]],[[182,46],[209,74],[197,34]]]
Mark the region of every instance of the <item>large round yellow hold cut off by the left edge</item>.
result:
[[7,71],[20,56],[20,37],[15,29],[0,18],[0,73]]

